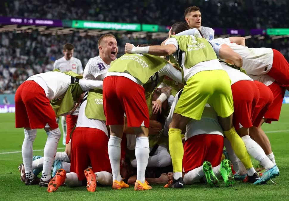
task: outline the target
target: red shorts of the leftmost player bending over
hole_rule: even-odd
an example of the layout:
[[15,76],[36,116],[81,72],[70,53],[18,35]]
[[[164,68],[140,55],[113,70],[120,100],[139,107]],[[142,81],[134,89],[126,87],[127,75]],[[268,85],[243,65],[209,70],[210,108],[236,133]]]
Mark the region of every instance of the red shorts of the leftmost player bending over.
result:
[[15,127],[43,129],[46,124],[58,128],[49,99],[35,81],[25,81],[15,93]]

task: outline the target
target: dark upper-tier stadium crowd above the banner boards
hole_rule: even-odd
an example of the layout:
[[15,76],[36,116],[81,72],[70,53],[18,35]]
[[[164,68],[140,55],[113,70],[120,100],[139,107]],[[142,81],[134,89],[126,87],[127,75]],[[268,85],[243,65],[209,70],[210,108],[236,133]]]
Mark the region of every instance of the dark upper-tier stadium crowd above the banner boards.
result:
[[289,8],[286,1],[281,0],[180,0],[170,4],[166,0],[136,0],[129,3],[125,0],[15,0],[1,1],[1,4],[2,16],[159,25],[168,25],[171,20],[182,21],[184,15],[179,10],[198,4],[202,8],[203,25],[207,27],[277,28],[289,24]]

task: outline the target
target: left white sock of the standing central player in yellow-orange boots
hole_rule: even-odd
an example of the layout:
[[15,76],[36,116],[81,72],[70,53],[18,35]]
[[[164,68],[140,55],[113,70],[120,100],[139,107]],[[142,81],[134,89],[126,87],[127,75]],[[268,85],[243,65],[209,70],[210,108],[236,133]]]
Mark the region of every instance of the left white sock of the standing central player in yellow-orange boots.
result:
[[116,136],[110,136],[108,140],[108,156],[111,164],[113,180],[121,181],[119,166],[120,166],[120,143],[122,139]]

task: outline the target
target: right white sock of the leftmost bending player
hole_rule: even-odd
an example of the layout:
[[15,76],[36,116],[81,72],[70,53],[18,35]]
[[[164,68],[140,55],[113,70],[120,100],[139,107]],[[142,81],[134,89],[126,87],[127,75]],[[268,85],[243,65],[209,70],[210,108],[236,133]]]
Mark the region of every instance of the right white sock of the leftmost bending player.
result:
[[44,147],[44,161],[42,169],[42,181],[48,181],[51,178],[51,167],[56,155],[58,141],[61,136],[59,128],[46,132],[47,140]]

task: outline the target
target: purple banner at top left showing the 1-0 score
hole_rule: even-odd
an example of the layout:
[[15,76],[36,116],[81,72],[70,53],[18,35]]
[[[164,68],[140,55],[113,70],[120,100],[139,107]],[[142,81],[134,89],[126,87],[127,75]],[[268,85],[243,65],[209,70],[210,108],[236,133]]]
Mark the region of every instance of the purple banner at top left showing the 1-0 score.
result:
[[13,18],[13,17],[2,17],[2,16],[0,16],[0,24],[21,24],[21,25],[62,27],[61,20]]

